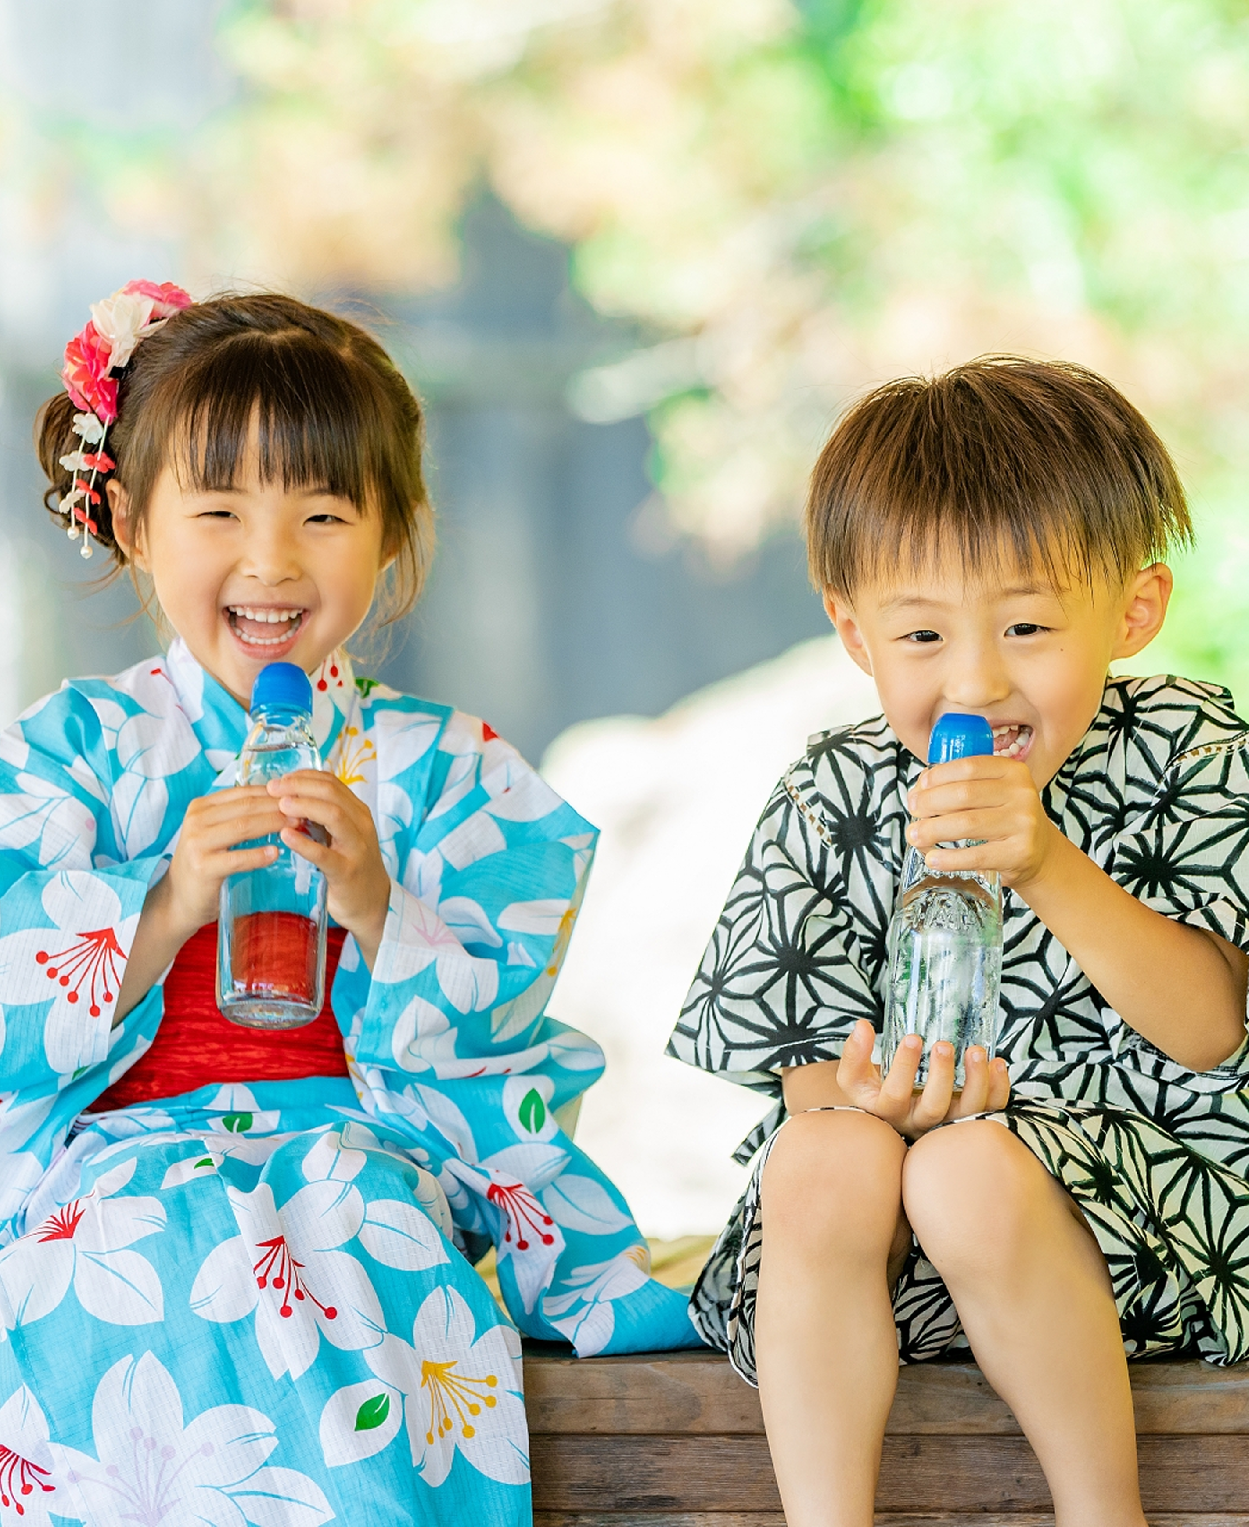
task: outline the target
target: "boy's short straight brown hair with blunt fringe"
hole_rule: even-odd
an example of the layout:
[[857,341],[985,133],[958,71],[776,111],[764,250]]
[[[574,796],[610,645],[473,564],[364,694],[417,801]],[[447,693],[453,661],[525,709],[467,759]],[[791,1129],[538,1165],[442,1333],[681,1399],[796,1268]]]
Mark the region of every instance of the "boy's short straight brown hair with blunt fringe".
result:
[[1144,415],[1084,366],[1018,356],[869,392],[820,452],[806,502],[811,579],[843,599],[944,550],[1061,583],[1127,579],[1191,542],[1183,487]]

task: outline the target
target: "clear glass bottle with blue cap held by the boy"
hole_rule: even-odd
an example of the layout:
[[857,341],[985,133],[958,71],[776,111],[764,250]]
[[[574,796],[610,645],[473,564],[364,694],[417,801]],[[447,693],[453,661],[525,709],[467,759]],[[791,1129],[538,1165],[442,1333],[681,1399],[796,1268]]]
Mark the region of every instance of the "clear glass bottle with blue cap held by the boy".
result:
[[[941,716],[928,744],[928,764],[992,753],[983,716]],[[962,846],[962,844],[954,844]],[[904,1034],[919,1034],[924,1058],[916,1086],[928,1075],[938,1040],[954,1046],[954,1086],[963,1084],[963,1054],[997,1044],[997,994],[1002,980],[1002,886],[994,870],[928,869],[907,849],[893,919],[889,924],[889,994],[883,1067]]]

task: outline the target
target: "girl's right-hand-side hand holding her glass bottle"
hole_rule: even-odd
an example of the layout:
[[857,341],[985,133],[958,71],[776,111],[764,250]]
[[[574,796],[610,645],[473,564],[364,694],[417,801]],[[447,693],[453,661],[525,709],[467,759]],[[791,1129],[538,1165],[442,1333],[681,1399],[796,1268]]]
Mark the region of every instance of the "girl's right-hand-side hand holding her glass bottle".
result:
[[[325,875],[330,916],[354,936],[373,970],[391,901],[391,876],[373,814],[340,779],[322,770],[272,779],[266,789],[286,822],[282,843]],[[295,826],[302,822],[324,828],[328,843]]]

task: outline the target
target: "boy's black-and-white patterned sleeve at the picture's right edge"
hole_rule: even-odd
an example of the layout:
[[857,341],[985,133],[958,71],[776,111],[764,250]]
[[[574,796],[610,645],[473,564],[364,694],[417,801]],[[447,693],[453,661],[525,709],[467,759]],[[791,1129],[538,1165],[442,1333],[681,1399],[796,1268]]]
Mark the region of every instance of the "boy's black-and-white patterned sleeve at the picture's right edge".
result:
[[1249,953],[1249,731],[1180,753],[1115,841],[1138,901]]

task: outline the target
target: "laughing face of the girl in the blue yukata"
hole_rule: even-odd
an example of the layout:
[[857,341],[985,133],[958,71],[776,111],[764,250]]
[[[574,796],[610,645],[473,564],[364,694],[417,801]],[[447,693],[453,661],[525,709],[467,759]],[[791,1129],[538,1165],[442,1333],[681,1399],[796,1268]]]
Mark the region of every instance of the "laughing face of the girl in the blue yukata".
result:
[[110,502],[118,542],[165,618],[244,705],[266,663],[311,673],[368,615],[385,563],[380,516],[324,489],[261,483],[255,455],[234,489],[185,489],[166,466],[137,527],[119,484]]

